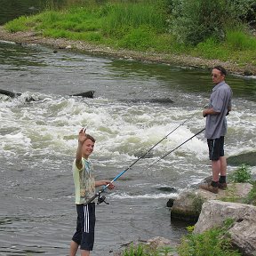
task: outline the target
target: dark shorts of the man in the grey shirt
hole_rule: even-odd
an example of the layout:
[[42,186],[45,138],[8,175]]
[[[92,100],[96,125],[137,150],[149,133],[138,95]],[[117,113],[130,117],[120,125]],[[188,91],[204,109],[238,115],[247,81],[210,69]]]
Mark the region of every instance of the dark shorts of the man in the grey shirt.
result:
[[209,148],[209,158],[212,161],[217,161],[220,156],[224,156],[224,136],[218,139],[207,139]]

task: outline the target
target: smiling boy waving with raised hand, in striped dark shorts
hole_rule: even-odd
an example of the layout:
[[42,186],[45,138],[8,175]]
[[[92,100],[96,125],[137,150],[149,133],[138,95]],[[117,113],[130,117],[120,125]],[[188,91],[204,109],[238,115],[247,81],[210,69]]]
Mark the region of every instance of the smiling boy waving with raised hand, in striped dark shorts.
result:
[[70,244],[70,256],[75,256],[80,245],[81,256],[89,256],[94,244],[95,204],[84,205],[95,194],[95,187],[107,186],[113,189],[115,186],[109,180],[94,180],[92,163],[89,156],[92,154],[95,140],[85,129],[78,134],[78,146],[76,159],[73,164],[73,178],[76,196],[76,232]]

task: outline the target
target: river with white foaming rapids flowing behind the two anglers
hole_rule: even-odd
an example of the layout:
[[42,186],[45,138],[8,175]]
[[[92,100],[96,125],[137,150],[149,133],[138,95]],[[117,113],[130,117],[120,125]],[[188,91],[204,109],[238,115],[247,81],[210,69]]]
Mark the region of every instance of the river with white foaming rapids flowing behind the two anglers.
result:
[[[255,148],[256,81],[229,75],[227,82],[234,98],[226,155],[234,156]],[[97,180],[112,180],[179,127],[116,180],[105,194],[108,205],[97,205],[92,255],[187,234],[188,224],[171,221],[166,203],[211,175],[204,134],[156,161],[204,128],[209,70],[1,42],[0,84],[22,92],[15,99],[0,95],[0,255],[68,255],[76,227],[71,164],[84,126],[96,139]],[[94,99],[68,96],[90,90]],[[27,102],[29,96],[36,101]]]

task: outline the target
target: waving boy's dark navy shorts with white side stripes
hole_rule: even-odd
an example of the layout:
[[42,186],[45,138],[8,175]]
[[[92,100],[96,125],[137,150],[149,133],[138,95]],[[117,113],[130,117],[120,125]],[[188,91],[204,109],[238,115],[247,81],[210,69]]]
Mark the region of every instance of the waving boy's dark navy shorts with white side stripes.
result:
[[95,204],[76,204],[76,233],[72,240],[80,244],[80,249],[92,251],[94,244]]

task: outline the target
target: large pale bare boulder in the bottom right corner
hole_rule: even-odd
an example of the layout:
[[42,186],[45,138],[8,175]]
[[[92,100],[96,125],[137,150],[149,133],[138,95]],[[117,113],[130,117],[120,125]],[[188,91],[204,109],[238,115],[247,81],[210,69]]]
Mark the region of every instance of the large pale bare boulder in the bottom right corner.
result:
[[232,244],[239,248],[243,255],[255,256],[256,206],[210,200],[203,204],[194,233],[221,227],[227,219],[235,220],[234,226],[228,229]]

